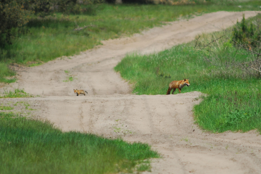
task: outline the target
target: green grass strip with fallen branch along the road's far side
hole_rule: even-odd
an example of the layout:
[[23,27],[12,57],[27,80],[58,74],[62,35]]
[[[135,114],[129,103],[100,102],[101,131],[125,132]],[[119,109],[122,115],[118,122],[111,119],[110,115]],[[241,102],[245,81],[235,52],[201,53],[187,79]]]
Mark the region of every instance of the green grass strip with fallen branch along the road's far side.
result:
[[[222,3],[218,3],[222,2]],[[258,2],[209,1],[198,5],[109,5],[97,4],[92,15],[53,14],[45,18],[32,16],[23,29],[13,29],[12,44],[0,49],[0,82],[14,82],[9,64],[29,66],[57,57],[75,55],[100,45],[101,40],[139,33],[164,25],[180,17],[192,17],[219,10],[258,10]],[[239,8],[238,5],[242,7]],[[80,31],[77,27],[93,25]]]

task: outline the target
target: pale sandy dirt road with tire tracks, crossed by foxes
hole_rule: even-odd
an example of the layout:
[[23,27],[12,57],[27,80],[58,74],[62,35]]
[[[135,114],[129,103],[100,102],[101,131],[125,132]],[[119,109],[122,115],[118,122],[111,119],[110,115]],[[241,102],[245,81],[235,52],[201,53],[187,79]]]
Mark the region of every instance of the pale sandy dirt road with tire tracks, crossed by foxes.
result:
[[[15,67],[17,82],[0,92],[24,88],[38,97],[0,99],[0,103],[24,101],[35,110],[20,104],[14,111],[48,119],[64,131],[149,143],[163,158],[152,159],[152,172],[144,173],[261,173],[261,136],[256,131],[211,134],[194,124],[193,105],[199,104],[198,97],[203,94],[133,95],[128,82],[113,70],[127,53],[148,54],[189,42],[200,33],[232,26],[243,13],[246,18],[257,14],[204,14],[129,38],[103,41],[79,55],[37,67]],[[66,81],[70,76],[74,80]],[[88,94],[76,96],[75,88]]]

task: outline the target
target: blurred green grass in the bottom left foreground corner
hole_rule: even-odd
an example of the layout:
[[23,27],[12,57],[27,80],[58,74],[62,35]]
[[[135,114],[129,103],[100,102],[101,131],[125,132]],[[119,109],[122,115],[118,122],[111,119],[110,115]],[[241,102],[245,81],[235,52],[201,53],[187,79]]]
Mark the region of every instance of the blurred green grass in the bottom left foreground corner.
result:
[[147,144],[64,133],[49,122],[3,112],[0,147],[0,173],[131,173],[145,159],[159,158]]

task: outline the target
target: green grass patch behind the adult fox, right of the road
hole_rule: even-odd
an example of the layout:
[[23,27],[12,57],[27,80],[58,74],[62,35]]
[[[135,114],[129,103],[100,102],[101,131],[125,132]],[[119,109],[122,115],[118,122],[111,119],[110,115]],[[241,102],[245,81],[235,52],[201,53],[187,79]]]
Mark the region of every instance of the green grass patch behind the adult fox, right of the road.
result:
[[166,94],[171,81],[189,78],[191,85],[182,88],[182,93],[207,94],[194,107],[195,123],[202,129],[261,132],[261,80],[242,66],[258,58],[232,46],[231,31],[203,34],[198,40],[154,55],[128,55],[115,70],[130,81],[138,95]]

